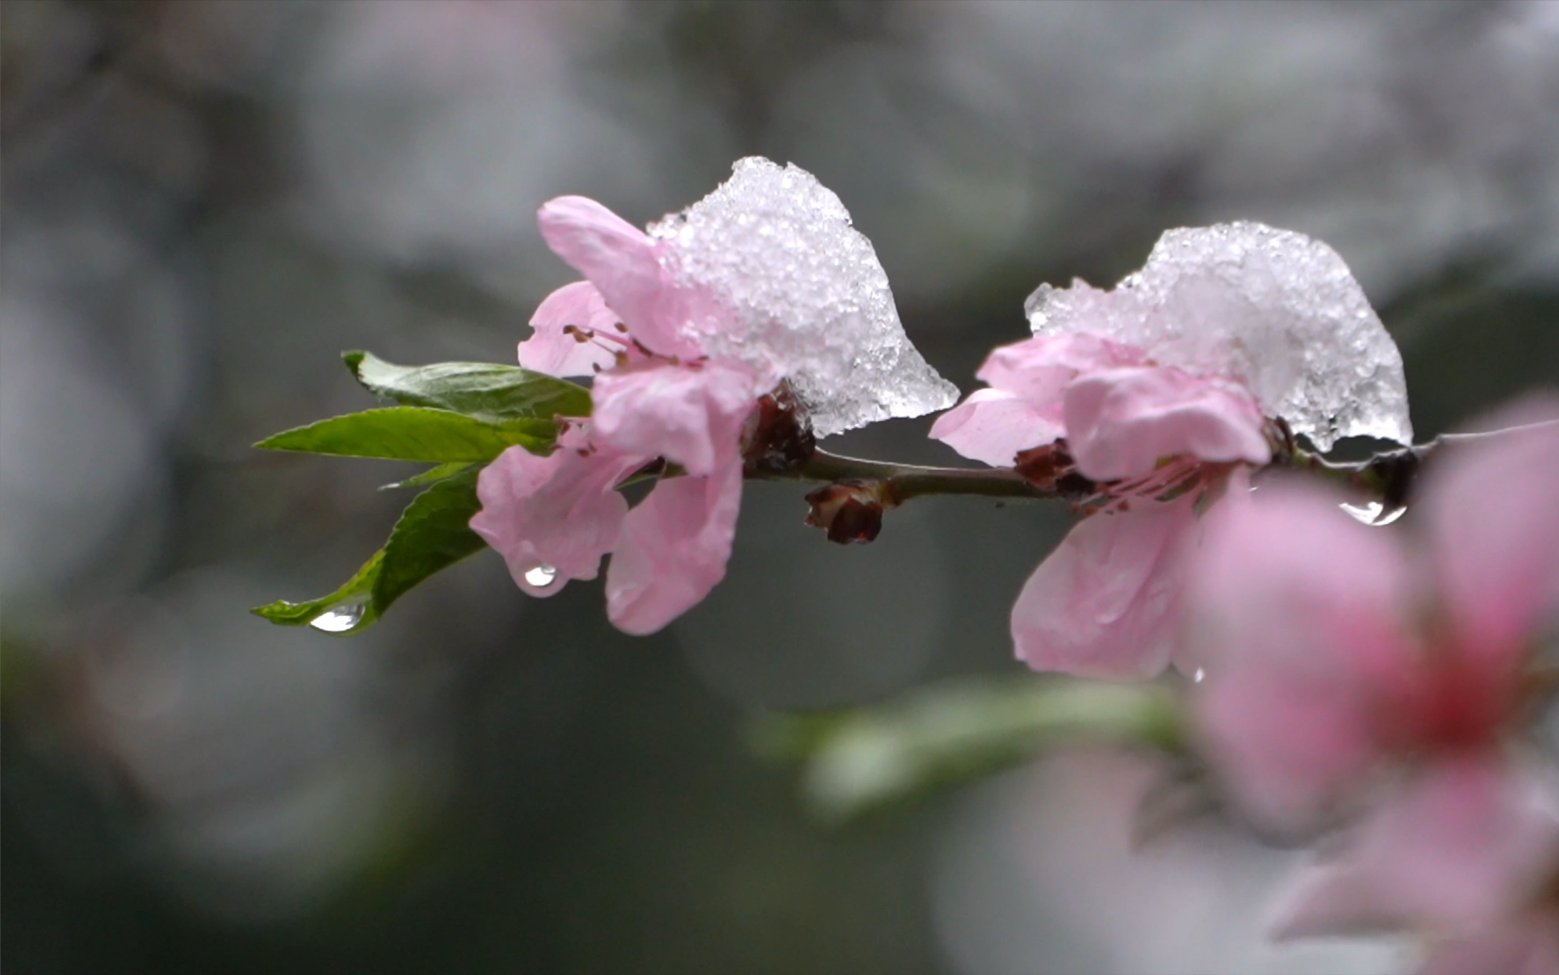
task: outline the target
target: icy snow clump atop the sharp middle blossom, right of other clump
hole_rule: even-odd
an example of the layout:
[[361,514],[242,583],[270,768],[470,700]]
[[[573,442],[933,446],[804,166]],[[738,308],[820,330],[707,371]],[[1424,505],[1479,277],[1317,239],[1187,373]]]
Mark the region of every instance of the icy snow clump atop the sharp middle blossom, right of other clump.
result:
[[1166,231],[1113,292],[1040,285],[1024,310],[1037,335],[1094,332],[1233,379],[1322,451],[1339,437],[1412,441],[1397,343],[1342,257],[1303,234],[1249,222]]

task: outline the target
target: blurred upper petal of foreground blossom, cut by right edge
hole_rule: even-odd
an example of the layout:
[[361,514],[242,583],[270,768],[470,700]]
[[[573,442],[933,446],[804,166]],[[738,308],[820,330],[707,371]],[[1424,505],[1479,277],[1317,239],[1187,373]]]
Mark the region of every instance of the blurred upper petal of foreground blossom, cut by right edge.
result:
[[1515,423],[1548,423],[1448,445],[1420,490],[1456,644],[1506,672],[1559,613],[1556,417],[1554,399],[1506,413]]

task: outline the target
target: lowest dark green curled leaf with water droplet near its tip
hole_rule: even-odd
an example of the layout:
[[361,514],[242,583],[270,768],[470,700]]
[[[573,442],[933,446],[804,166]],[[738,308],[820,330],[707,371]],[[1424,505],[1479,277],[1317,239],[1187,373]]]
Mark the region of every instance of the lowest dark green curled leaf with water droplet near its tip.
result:
[[469,521],[482,509],[477,471],[440,480],[412,499],[385,548],[373,554],[341,588],[309,602],[278,599],[254,613],[282,626],[313,626],[327,633],[355,633],[379,619],[407,590],[460,562],[485,543]]

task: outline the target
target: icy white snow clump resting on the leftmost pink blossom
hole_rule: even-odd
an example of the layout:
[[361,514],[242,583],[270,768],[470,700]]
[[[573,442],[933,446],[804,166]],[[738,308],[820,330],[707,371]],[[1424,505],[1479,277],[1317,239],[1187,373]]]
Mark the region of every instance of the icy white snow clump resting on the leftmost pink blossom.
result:
[[650,226],[672,281],[712,298],[700,346],[787,376],[820,437],[920,417],[959,392],[904,335],[887,275],[815,176],[737,161],[702,201]]

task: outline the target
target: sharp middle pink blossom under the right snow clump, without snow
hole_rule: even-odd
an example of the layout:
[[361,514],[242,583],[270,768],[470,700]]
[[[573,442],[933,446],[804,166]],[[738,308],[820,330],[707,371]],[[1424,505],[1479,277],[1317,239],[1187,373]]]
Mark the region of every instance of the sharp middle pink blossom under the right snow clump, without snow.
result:
[[1154,677],[1174,652],[1199,502],[1222,493],[1236,466],[1272,459],[1255,398],[1228,378],[1154,365],[1149,349],[1088,332],[998,348],[977,376],[990,388],[943,413],[932,437],[992,465],[1054,443],[1099,485],[1084,502],[1093,516],[1012,608],[1018,657],[1038,671]]

